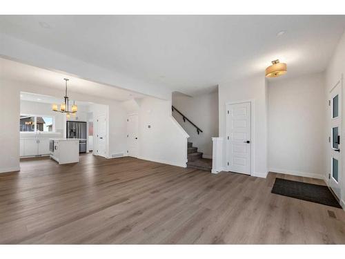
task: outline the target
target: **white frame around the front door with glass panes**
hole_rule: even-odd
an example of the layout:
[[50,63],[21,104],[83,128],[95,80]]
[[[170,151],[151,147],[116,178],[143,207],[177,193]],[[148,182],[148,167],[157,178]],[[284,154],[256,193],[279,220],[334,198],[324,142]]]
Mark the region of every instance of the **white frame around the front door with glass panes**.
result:
[[[343,122],[343,111],[344,111],[344,107],[343,107],[343,75],[340,77],[339,80],[337,80],[337,82],[333,85],[333,87],[331,89],[328,90],[328,96],[327,96],[327,99],[330,100],[330,105],[328,105],[328,108],[329,108],[329,111],[327,113],[327,120],[329,122],[327,122],[327,125],[328,125],[328,129],[327,129],[327,133],[328,133],[328,137],[329,138],[329,142],[327,144],[327,160],[328,163],[327,163],[327,171],[328,171],[328,175],[326,175],[326,184],[328,186],[328,188],[334,193],[335,197],[337,197],[337,195],[335,194],[335,192],[333,191],[333,189],[331,188],[331,178],[333,177],[332,176],[332,153],[331,153],[331,148],[330,148],[330,145],[332,145],[333,143],[333,133],[332,133],[332,116],[333,116],[333,103],[332,103],[332,100],[330,99],[330,95],[331,95],[331,92],[337,87],[339,86],[339,95],[340,95],[340,102],[339,102],[339,111],[340,111],[340,116],[339,116],[339,119],[340,119],[340,124],[339,124],[339,133],[340,134],[340,143],[342,144],[342,142],[344,141],[344,122]],[[344,145],[345,146],[345,145]],[[340,146],[341,148],[341,151],[342,151],[342,145]],[[343,152],[343,151],[342,151]],[[339,204],[342,206],[342,203],[343,203],[343,200],[342,200],[342,192],[343,192],[343,186],[342,186],[342,182],[343,182],[343,166],[342,166],[342,162],[343,162],[343,157],[344,157],[344,154],[343,153],[340,153],[339,155],[339,171],[340,171],[340,178],[338,176],[338,181],[339,181],[339,189],[340,189],[340,193],[339,193]]]

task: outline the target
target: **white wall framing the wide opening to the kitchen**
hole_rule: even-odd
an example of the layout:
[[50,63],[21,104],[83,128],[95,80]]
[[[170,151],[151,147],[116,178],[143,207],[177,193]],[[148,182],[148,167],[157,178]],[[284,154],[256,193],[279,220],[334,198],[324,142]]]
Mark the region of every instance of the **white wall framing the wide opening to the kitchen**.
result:
[[[0,102],[4,105],[1,109],[1,119],[6,122],[3,133],[0,135],[0,172],[19,170],[19,115],[20,92],[37,93],[61,97],[61,91],[39,86],[30,86],[21,81],[8,81],[1,79],[0,75]],[[63,93],[62,93],[63,94]],[[126,152],[126,110],[119,102],[70,92],[73,99],[81,102],[94,102],[109,106],[109,148],[108,155]],[[8,108],[7,108],[8,107]],[[9,108],[10,107],[10,108]]]

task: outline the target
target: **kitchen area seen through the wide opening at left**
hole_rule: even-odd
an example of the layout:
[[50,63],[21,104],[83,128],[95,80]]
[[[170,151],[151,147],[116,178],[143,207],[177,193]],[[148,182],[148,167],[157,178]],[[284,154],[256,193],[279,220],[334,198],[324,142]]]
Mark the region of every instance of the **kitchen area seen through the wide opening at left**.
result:
[[71,108],[68,102],[67,99],[64,106],[56,97],[21,93],[21,159],[50,157],[59,164],[68,164],[79,162],[79,155],[92,152],[92,103],[73,101]]

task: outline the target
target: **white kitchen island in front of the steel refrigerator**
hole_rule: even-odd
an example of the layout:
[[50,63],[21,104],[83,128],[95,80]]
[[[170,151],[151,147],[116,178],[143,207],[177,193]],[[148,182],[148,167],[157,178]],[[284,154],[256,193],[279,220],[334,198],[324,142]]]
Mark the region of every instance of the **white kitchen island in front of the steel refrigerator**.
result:
[[79,162],[79,139],[50,139],[50,158],[59,164]]

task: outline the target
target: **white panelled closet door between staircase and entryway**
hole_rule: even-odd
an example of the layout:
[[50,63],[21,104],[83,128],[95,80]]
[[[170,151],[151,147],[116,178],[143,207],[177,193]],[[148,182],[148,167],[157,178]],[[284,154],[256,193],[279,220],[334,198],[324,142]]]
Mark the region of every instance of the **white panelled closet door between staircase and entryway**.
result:
[[229,104],[226,116],[227,169],[250,175],[250,102]]

